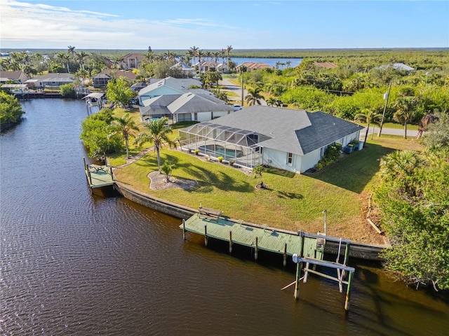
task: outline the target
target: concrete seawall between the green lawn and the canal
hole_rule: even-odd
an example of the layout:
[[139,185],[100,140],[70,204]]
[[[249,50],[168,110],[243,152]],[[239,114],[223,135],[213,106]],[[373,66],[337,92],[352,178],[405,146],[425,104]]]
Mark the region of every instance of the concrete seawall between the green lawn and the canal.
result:
[[[160,211],[163,214],[168,214],[173,217],[187,219],[199,212],[197,209],[184,207],[180,204],[175,204],[172,202],[168,202],[166,200],[161,200],[159,198],[146,195],[144,193],[140,193],[140,191],[130,188],[130,187],[126,186],[124,183],[121,183],[119,181],[115,181],[114,188],[121,195],[123,195],[123,197],[127,198],[130,201],[138,203],[138,204],[140,204],[144,207],[147,207],[149,209],[154,209],[156,211]],[[232,219],[229,219],[229,220],[233,221]],[[259,226],[257,224],[253,224],[253,223],[248,223],[248,224],[254,225],[256,227]],[[274,228],[274,229],[279,230],[277,228]],[[290,232],[290,233],[292,233],[292,232]],[[293,232],[293,233],[295,233],[295,232]],[[379,253],[386,247],[387,246],[363,244],[363,243],[357,243],[355,241],[352,241],[350,250],[349,250],[349,256],[352,258],[359,258],[359,259],[365,259],[365,260],[381,260],[379,257]],[[331,241],[326,242],[326,253],[337,255],[338,243],[331,242]],[[343,253],[344,253],[344,251],[343,251]]]

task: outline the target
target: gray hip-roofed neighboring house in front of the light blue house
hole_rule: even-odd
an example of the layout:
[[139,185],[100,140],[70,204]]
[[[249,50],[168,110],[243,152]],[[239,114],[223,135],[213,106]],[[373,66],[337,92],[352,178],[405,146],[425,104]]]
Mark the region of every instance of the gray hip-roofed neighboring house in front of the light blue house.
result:
[[167,117],[173,123],[180,121],[208,121],[234,112],[231,106],[206,90],[197,89],[184,94],[164,94],[146,99],[140,106],[142,121]]

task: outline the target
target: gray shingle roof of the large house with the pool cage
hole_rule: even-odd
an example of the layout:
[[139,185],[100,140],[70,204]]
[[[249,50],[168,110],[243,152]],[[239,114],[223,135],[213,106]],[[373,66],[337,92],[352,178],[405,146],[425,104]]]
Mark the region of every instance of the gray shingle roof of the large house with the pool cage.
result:
[[323,112],[250,106],[214,120],[217,125],[264,134],[260,146],[305,155],[363,127]]

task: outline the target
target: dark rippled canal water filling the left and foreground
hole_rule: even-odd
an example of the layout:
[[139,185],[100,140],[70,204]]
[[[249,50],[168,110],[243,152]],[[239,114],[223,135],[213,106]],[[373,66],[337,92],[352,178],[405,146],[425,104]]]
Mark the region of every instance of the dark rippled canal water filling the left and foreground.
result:
[[351,309],[282,257],[188,235],[180,220],[91,191],[83,102],[22,103],[1,134],[1,335],[448,335],[447,297],[406,288],[359,260]]

